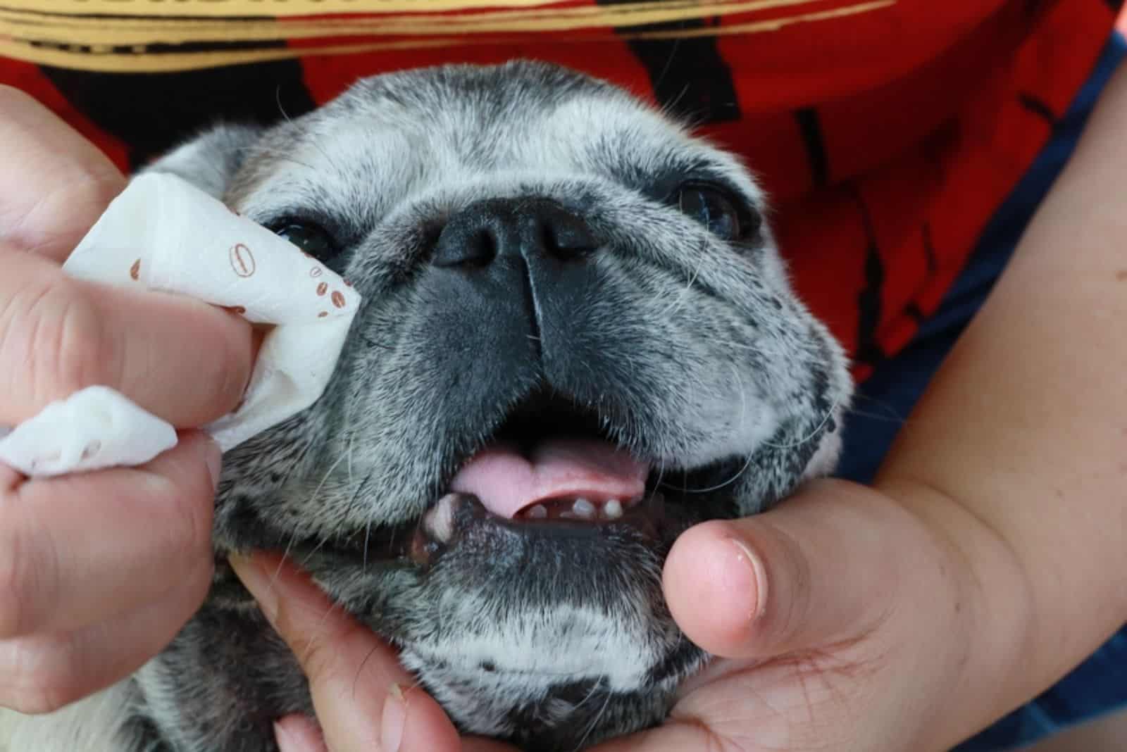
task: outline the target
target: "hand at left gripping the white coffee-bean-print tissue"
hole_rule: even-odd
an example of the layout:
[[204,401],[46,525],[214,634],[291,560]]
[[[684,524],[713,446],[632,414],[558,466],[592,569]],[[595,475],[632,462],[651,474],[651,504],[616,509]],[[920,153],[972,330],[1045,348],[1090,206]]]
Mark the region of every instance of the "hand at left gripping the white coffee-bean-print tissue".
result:
[[[234,409],[254,356],[246,321],[60,268],[125,187],[113,163],[8,87],[0,143],[0,426],[92,384],[180,428]],[[219,469],[195,432],[136,468],[29,481],[0,465],[0,706],[56,709],[172,638],[211,582]]]

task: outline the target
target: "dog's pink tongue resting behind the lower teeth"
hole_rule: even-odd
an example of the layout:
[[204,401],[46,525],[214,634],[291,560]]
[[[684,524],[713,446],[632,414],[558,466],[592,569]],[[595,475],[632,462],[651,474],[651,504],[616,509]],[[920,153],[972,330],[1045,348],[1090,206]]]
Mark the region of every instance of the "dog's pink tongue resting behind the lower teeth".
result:
[[548,439],[531,455],[498,442],[474,455],[450,490],[472,493],[494,514],[512,518],[548,499],[636,499],[646,490],[648,472],[645,463],[597,439]]

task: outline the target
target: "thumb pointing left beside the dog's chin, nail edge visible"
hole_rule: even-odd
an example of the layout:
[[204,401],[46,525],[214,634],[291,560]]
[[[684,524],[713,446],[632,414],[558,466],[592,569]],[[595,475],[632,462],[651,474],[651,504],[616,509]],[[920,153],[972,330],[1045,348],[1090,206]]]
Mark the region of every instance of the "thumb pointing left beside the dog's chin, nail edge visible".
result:
[[716,655],[826,647],[887,616],[924,545],[913,518],[877,492],[826,481],[770,512],[687,530],[666,561],[665,593],[689,638]]

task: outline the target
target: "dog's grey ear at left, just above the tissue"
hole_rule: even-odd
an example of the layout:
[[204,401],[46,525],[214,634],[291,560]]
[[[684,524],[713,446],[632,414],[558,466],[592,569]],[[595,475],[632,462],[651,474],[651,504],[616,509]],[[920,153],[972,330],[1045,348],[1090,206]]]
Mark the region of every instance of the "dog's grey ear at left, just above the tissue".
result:
[[254,125],[214,125],[180,144],[140,172],[168,172],[223,200],[249,147],[264,128]]

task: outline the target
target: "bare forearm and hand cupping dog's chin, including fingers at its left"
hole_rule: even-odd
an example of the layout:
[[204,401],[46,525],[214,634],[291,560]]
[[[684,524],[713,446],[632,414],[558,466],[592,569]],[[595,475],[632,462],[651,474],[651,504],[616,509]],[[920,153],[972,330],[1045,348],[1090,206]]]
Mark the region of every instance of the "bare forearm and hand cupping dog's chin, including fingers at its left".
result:
[[[726,660],[600,752],[939,752],[1127,620],[1124,133],[1127,70],[871,487],[820,481],[678,539],[669,608]],[[458,738],[290,565],[236,566],[316,698],[320,728],[281,719],[283,752],[507,749]]]

